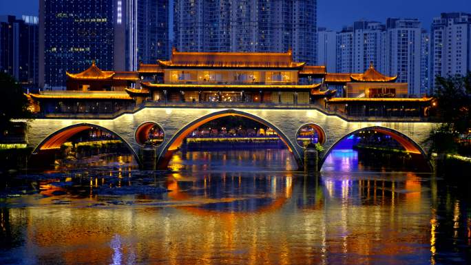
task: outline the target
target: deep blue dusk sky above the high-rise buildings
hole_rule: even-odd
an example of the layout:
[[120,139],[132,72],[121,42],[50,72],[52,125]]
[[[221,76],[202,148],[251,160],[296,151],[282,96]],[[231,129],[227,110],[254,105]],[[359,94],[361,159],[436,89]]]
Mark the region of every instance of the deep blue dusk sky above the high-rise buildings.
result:
[[[387,17],[420,19],[430,28],[433,17],[441,12],[470,12],[470,0],[317,0],[318,23],[333,30],[355,20],[386,21]],[[39,0],[0,0],[0,14],[38,13]]]

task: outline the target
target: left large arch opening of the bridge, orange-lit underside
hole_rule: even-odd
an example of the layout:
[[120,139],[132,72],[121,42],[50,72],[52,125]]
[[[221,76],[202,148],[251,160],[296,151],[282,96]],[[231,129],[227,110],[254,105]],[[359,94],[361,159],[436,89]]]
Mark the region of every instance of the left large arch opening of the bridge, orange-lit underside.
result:
[[32,151],[30,167],[44,168],[58,157],[81,159],[104,151],[129,154],[127,162],[140,165],[136,151],[119,134],[100,125],[79,123],[54,131],[42,140]]

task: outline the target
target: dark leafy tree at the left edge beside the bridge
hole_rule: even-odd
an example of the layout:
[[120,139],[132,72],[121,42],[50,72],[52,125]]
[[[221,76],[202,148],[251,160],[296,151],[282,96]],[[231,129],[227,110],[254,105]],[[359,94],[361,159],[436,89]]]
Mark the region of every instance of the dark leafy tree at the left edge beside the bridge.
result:
[[0,72],[0,131],[8,129],[14,118],[30,118],[29,101],[23,89],[9,74]]

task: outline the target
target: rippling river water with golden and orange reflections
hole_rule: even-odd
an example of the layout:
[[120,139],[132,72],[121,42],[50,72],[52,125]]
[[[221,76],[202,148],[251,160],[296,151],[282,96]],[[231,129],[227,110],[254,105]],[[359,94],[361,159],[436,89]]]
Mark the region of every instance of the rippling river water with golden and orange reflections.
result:
[[127,158],[2,180],[0,264],[471,262],[466,183],[355,151],[318,177],[286,150],[178,152],[165,175]]

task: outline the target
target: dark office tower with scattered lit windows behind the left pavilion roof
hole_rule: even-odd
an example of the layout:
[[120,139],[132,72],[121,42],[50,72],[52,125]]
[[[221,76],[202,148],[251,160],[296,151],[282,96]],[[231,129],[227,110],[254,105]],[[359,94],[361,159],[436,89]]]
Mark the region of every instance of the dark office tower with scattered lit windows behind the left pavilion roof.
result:
[[41,0],[39,85],[64,89],[65,72],[82,72],[92,61],[124,70],[122,6],[121,0]]

